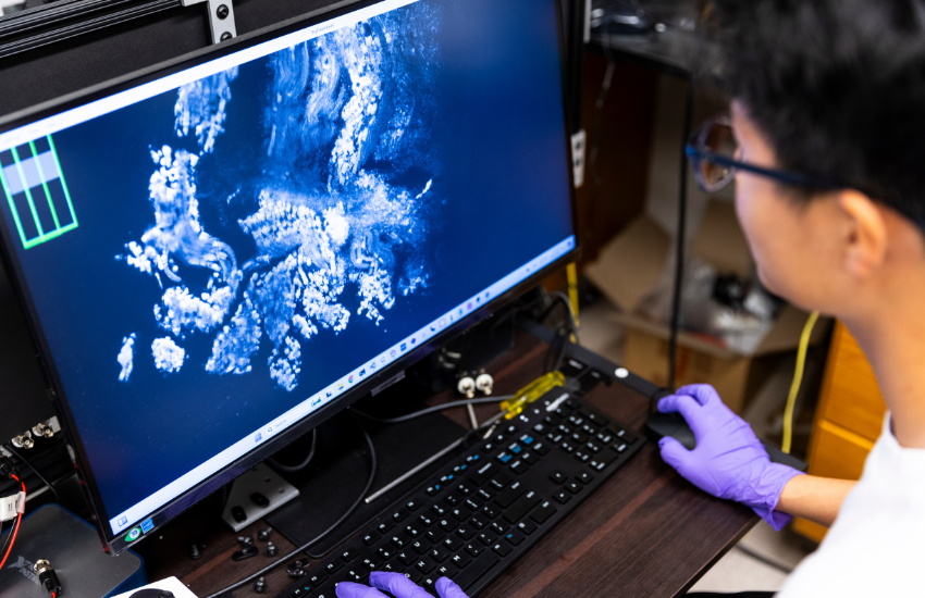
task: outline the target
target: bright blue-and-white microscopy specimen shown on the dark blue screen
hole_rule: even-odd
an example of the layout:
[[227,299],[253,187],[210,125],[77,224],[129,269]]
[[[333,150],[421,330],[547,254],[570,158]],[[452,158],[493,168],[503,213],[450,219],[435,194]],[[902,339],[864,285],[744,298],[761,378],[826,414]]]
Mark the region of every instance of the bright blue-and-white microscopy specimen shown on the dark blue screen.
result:
[[[240,375],[270,342],[269,375],[292,391],[303,345],[320,331],[343,332],[351,317],[380,325],[396,295],[428,286],[419,249],[424,214],[434,217],[428,148],[439,53],[433,38],[406,34],[437,30],[437,21],[433,9],[393,11],[245,66],[270,73],[262,82],[266,148],[236,166],[257,196],[256,210],[236,219],[254,241],[249,254],[236,256],[221,232],[203,226],[197,169],[226,162],[233,141],[225,133],[236,129],[230,107],[238,87],[252,92],[254,84],[234,67],[177,90],[174,130],[195,140],[195,150],[150,151],[152,223],[116,256],[163,289],[153,319],[172,337],[153,339],[150,354],[138,358],[168,373]],[[411,171],[427,180],[412,186],[405,180]],[[190,269],[206,273],[205,284],[201,275],[198,287],[186,281]],[[182,339],[195,333],[213,336],[211,354],[186,363]],[[125,337],[116,356],[122,382],[131,381],[135,340]]]

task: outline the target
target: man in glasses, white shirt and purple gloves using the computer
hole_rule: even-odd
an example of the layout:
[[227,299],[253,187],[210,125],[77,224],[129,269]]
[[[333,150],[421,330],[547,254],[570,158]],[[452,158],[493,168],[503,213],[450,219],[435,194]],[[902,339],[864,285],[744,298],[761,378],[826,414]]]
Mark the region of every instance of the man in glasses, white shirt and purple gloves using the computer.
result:
[[[859,483],[773,464],[712,387],[659,403],[696,436],[666,462],[776,528],[830,525],[778,598],[925,593],[925,0],[713,0],[707,67],[733,98],[689,148],[707,190],[735,178],[736,208],[773,292],[840,319],[889,408]],[[666,563],[668,564],[668,563]],[[371,583],[427,595],[400,576]],[[443,598],[461,590],[441,580]],[[340,598],[377,590],[341,584]]]

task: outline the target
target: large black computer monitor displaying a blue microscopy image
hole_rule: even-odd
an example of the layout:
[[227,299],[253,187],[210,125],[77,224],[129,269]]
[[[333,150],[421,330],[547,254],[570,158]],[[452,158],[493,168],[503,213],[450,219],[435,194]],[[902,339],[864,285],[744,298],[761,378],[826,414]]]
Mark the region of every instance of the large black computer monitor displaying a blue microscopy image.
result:
[[557,4],[361,1],[0,123],[108,549],[574,257]]

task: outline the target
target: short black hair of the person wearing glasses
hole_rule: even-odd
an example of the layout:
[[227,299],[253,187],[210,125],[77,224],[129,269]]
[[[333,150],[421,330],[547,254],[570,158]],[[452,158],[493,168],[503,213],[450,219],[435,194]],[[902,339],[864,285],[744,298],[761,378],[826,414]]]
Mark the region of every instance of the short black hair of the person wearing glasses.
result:
[[781,167],[843,182],[925,224],[925,0],[706,0],[702,10],[710,73]]

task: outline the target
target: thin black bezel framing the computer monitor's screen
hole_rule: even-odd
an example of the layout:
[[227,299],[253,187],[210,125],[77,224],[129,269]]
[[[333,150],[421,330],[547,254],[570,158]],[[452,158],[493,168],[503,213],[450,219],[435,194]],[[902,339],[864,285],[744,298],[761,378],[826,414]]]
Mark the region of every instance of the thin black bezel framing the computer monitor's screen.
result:
[[[306,27],[314,26],[319,23],[330,21],[331,18],[348,14],[356,10],[382,3],[383,1],[385,0],[347,0],[343,2],[337,2],[331,7],[326,7],[324,9],[313,11],[295,18],[291,18],[283,23],[270,27],[264,27],[250,34],[239,36],[233,40],[223,42],[219,46],[197,50],[195,52],[184,54],[171,61],[153,65],[143,71],[138,71],[122,77],[111,79],[107,83],[2,117],[0,119],[0,133],[5,133],[8,130],[18,128],[21,126],[39,121],[41,119],[61,113],[65,110],[70,110],[72,108],[89,103],[91,101],[111,96],[113,94],[124,91],[128,88],[137,87],[138,85],[143,85],[150,80],[159,79],[170,74],[184,71],[197,64],[215,60],[220,57],[240,51],[245,48],[256,46],[275,37],[280,37],[299,29],[304,29]],[[562,5],[558,0],[546,1],[555,5],[554,10],[556,12],[556,20],[558,24],[557,36],[559,57],[562,58],[564,55],[563,52],[565,51]],[[563,62],[560,61],[560,68]],[[567,155],[570,157],[571,134],[569,130],[568,123],[567,82],[565,76],[562,76],[560,80],[563,94],[563,127],[565,133],[564,139],[567,146]],[[147,516],[152,520],[153,527],[143,534],[137,539],[131,541],[126,539],[124,534],[127,531],[137,526],[138,523],[134,522],[133,525],[126,527],[125,530],[122,530],[118,534],[114,533],[111,526],[109,525],[111,515],[106,512],[102,497],[99,494],[94,478],[92,468],[90,466],[90,460],[88,459],[88,456],[84,449],[84,445],[81,441],[81,436],[77,431],[75,420],[71,412],[70,403],[66,398],[66,393],[64,391],[64,387],[61,384],[61,378],[55,367],[49,345],[45,337],[37,310],[35,309],[35,303],[33,301],[32,294],[29,292],[29,289],[25,284],[24,272],[22,271],[18,259],[16,258],[14,239],[5,227],[0,227],[0,240],[2,240],[2,242],[0,242],[0,259],[4,261],[8,271],[12,273],[12,286],[14,287],[15,295],[22,303],[25,313],[27,314],[27,320],[29,323],[30,332],[33,334],[33,338],[39,349],[38,359],[42,366],[45,375],[47,376],[50,395],[53,397],[53,402],[55,404],[58,413],[64,422],[65,436],[67,437],[76,456],[76,469],[78,475],[84,482],[81,486],[85,490],[88,506],[96,518],[95,526],[97,527],[97,531],[100,535],[100,539],[102,540],[104,550],[112,555],[118,555],[119,552],[125,550],[133,544],[141,541],[143,539],[149,537],[151,535],[150,532],[161,527],[163,524],[165,524],[186,509],[193,507],[201,499],[218,490],[223,485],[230,483],[235,477],[246,472],[248,469],[255,466],[257,463],[263,461],[267,457],[270,457],[271,454],[275,453],[293,440],[305,435],[306,433],[308,433],[325,420],[330,419],[334,414],[347,409],[354,402],[367,396],[372,389],[382,385],[384,382],[390,381],[392,377],[400,374],[409,366],[419,362],[421,359],[427,358],[429,354],[439,349],[440,346],[445,344],[451,338],[464,333],[477,323],[490,317],[497,310],[509,304],[511,301],[520,297],[526,290],[535,287],[543,278],[547,277],[553,272],[556,272],[566,264],[575,261],[580,254],[581,249],[578,236],[578,209],[576,203],[574,171],[570,167],[570,161],[566,164],[566,170],[568,171],[572,235],[576,240],[574,249],[571,249],[554,262],[550,263],[545,267],[534,272],[532,275],[530,275],[521,283],[515,285],[515,287],[513,287],[508,291],[495,297],[490,302],[485,303],[481,309],[473,311],[465,319],[459,320],[451,326],[447,326],[440,334],[431,337],[430,339],[428,339],[427,342],[423,342],[414,350],[409,351],[395,362],[391,363],[388,366],[379,371],[375,375],[370,376],[361,383],[358,383],[355,387],[353,387],[350,390],[347,390],[346,393],[337,397],[335,400],[322,406],[317,411],[313,411],[310,414],[306,415],[300,421],[296,422],[281,434],[275,435],[263,444],[257,446],[247,454],[240,457],[239,459],[226,465],[225,468],[222,468],[219,472],[212,474],[193,488],[186,490],[176,498],[161,506],[159,509],[152,511]]]

